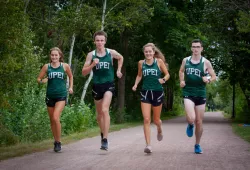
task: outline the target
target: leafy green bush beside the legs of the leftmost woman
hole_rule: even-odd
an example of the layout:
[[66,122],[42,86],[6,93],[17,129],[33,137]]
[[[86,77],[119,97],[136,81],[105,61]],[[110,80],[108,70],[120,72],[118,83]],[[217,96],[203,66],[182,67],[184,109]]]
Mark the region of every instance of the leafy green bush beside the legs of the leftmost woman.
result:
[[[21,141],[37,141],[51,136],[45,107],[45,88],[27,86],[20,89],[19,97],[10,101],[11,108],[3,111],[3,124]],[[42,104],[41,104],[42,103]]]

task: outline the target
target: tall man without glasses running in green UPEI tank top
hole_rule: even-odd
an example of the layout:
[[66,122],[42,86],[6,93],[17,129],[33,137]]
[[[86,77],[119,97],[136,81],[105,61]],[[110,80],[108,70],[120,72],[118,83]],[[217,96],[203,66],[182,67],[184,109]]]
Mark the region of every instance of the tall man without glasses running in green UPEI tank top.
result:
[[108,150],[108,131],[110,126],[109,107],[115,92],[113,59],[118,60],[116,75],[122,77],[123,56],[113,49],[105,48],[107,34],[97,31],[94,34],[96,49],[87,55],[82,69],[86,76],[93,70],[93,90],[97,121],[101,131],[101,148]]

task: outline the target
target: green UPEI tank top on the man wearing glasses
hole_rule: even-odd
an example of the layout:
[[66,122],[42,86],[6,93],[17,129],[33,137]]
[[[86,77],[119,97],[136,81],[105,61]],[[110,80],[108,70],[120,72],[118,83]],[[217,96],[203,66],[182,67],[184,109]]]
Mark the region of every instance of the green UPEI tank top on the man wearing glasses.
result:
[[201,57],[198,64],[191,62],[191,56],[185,64],[185,83],[183,87],[183,96],[204,97],[206,98],[206,83],[203,82],[204,74],[204,57]]

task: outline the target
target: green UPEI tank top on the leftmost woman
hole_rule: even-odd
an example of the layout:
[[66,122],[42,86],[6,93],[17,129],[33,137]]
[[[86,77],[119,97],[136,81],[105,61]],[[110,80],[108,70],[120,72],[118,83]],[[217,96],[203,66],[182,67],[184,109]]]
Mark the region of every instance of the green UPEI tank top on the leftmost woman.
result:
[[60,98],[67,97],[66,89],[66,75],[63,68],[63,64],[60,63],[60,66],[53,68],[51,64],[48,64],[48,85],[47,85],[47,94],[49,98]]

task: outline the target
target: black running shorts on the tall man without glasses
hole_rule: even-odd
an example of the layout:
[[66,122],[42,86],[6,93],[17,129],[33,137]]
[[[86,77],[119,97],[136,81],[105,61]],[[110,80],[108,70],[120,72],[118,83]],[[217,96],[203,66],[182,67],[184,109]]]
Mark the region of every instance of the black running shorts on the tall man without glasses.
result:
[[92,87],[92,96],[95,100],[101,100],[104,96],[104,93],[110,91],[113,96],[115,95],[115,83],[103,83],[103,84],[93,84]]

